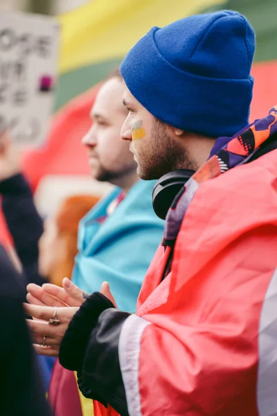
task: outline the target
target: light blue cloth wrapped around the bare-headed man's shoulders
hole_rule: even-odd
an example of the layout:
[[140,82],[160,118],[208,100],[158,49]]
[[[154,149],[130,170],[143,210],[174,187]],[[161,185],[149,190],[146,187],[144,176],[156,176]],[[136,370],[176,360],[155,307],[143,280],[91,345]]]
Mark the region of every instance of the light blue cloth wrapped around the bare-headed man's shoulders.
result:
[[109,281],[118,308],[134,312],[148,266],[163,236],[163,220],[152,208],[154,182],[139,180],[116,210],[100,223],[121,192],[116,188],[89,211],[79,228],[73,282],[83,291],[100,290]]

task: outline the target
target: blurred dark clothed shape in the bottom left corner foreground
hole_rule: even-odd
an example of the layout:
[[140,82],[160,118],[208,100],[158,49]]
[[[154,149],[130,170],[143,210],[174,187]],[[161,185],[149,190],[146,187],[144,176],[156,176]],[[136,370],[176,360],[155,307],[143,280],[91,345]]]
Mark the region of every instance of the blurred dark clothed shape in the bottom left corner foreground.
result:
[[21,277],[0,246],[1,415],[50,416],[22,302]]

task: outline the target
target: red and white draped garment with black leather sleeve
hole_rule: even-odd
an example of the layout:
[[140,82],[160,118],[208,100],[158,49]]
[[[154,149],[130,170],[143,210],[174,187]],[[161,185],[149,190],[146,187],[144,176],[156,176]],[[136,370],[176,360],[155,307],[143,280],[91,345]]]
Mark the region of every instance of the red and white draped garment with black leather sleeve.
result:
[[[157,251],[136,314],[103,304],[84,329],[81,390],[122,416],[274,415],[277,150],[200,185],[162,280],[169,251]],[[64,347],[82,344],[73,338]]]

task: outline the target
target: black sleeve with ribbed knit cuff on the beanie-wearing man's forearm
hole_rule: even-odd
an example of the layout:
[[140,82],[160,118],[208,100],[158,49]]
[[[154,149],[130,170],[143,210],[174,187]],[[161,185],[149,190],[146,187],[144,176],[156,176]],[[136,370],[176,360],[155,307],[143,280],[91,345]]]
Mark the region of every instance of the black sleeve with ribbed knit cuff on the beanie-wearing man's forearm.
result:
[[93,293],[71,320],[59,354],[63,367],[78,372],[82,395],[109,404],[121,416],[128,416],[128,411],[118,340],[129,316],[114,309],[105,296]]

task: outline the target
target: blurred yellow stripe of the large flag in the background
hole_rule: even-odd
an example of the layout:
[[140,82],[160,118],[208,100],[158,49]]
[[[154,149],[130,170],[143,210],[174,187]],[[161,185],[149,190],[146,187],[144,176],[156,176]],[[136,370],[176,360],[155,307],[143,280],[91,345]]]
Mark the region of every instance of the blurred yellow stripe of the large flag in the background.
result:
[[224,0],[93,0],[60,16],[60,73],[123,58],[152,26],[166,26]]

